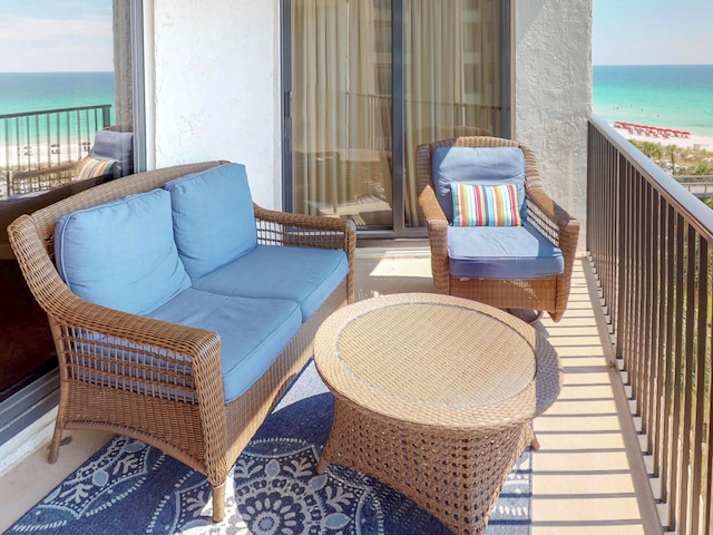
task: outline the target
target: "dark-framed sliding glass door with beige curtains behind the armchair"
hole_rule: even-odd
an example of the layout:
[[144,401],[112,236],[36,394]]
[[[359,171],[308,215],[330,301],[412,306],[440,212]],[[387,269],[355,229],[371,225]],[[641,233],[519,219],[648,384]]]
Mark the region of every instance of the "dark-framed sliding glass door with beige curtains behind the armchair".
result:
[[421,143],[509,135],[502,0],[285,0],[285,205],[422,234]]

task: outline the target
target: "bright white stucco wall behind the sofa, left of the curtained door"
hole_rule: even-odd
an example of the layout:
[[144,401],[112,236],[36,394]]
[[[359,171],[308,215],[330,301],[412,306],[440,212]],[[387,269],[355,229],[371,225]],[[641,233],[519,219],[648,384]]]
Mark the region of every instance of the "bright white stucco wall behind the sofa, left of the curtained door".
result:
[[145,0],[145,13],[149,167],[238,162],[254,201],[280,207],[279,0]]

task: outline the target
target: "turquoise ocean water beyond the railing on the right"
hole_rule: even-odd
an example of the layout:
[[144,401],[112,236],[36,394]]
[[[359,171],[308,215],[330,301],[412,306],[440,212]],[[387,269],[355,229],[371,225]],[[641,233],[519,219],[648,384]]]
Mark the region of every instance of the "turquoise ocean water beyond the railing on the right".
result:
[[599,118],[713,137],[713,65],[594,66]]

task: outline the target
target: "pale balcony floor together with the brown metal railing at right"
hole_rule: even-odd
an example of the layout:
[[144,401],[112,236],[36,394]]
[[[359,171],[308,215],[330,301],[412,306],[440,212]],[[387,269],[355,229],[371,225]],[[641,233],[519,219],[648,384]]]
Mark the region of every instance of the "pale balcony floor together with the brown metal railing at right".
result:
[[[564,319],[536,324],[565,385],[535,421],[531,533],[711,533],[713,212],[606,125],[588,132],[587,252]],[[433,291],[419,245],[358,251],[358,299]],[[67,436],[57,465],[40,449],[0,478],[0,529],[109,438]]]

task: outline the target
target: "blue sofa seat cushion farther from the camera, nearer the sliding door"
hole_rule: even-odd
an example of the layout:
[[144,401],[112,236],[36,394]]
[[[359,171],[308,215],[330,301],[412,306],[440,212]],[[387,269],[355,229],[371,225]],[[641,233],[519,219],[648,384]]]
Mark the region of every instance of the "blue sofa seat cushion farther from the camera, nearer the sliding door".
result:
[[289,299],[309,319],[349,273],[343,251],[257,245],[250,253],[193,281],[193,288],[226,295]]

